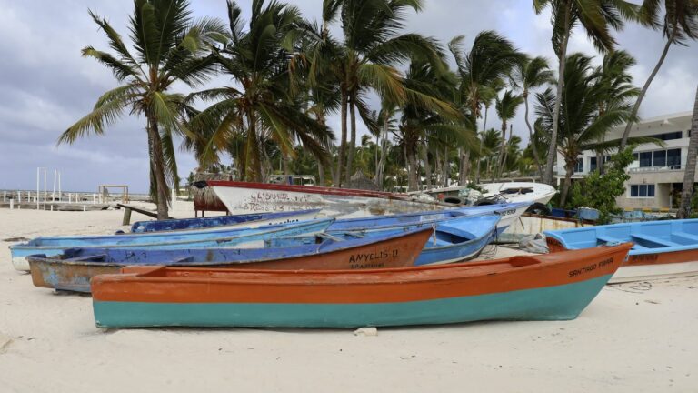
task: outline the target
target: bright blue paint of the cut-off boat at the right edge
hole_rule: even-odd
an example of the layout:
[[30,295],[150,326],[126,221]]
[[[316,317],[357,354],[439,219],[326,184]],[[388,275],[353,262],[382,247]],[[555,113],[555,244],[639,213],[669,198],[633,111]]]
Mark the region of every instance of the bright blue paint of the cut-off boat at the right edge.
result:
[[545,231],[567,249],[633,242],[629,255],[698,249],[698,219],[643,221]]

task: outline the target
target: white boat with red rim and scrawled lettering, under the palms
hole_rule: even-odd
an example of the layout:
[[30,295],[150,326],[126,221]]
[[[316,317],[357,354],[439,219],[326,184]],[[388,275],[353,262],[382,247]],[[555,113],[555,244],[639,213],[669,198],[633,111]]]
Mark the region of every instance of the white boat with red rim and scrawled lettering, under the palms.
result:
[[431,197],[323,186],[208,180],[232,214],[323,209],[334,217],[365,217],[456,207]]

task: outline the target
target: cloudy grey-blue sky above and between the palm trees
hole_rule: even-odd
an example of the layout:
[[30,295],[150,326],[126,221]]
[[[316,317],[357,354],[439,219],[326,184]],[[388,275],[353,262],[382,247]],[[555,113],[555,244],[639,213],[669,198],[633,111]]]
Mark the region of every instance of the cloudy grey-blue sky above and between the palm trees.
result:
[[[192,0],[194,16],[224,19],[224,0]],[[317,19],[321,0],[290,2],[306,18]],[[550,14],[535,15],[528,0],[424,0],[424,10],[410,13],[405,32],[416,32],[446,43],[455,35],[464,35],[466,50],[482,30],[496,30],[529,55],[547,57],[556,69],[557,61],[550,42]],[[239,1],[244,15],[251,0]],[[148,185],[147,138],[145,121],[124,116],[105,135],[89,136],[71,146],[56,146],[56,140],[68,126],[89,113],[98,96],[116,85],[112,74],[95,60],[83,58],[80,49],[93,45],[107,50],[104,33],[87,14],[92,9],[106,17],[123,35],[133,9],[129,0],[39,0],[18,2],[0,0],[0,189],[32,189],[36,185],[36,167],[46,167],[49,188],[53,171],[62,174],[62,188],[93,191],[100,184],[128,185],[132,192],[145,192]],[[334,26],[334,32],[339,32]],[[619,47],[637,60],[631,73],[642,86],[663,49],[663,36],[639,25],[626,25],[616,34]],[[568,53],[595,52],[582,31],[575,30]],[[662,116],[693,108],[698,85],[698,43],[673,46],[643,101],[641,117]],[[209,86],[229,85],[224,76],[216,76]],[[183,90],[183,92],[187,92]],[[379,102],[371,103],[377,109]],[[494,111],[492,111],[494,112]],[[494,113],[487,127],[499,127]],[[328,125],[339,134],[339,118]],[[514,135],[527,140],[523,107],[513,122]],[[360,133],[365,127],[358,123]],[[482,123],[481,123],[482,127]],[[196,167],[187,152],[177,156],[180,176]],[[43,181],[43,180],[42,180]]]

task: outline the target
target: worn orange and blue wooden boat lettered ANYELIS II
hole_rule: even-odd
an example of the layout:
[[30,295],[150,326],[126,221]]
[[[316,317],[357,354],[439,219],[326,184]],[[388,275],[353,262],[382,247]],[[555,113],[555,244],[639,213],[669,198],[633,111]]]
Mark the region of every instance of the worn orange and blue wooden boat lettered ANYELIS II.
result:
[[341,270],[411,267],[432,236],[420,228],[374,237],[317,234],[314,242],[286,248],[116,249],[71,248],[56,257],[27,257],[36,287],[90,291],[90,278],[126,266],[235,267]]

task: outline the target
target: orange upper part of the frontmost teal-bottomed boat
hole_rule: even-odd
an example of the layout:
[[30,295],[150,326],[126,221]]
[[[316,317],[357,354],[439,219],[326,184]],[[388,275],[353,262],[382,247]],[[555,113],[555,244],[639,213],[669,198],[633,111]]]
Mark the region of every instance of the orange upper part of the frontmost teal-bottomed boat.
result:
[[613,275],[632,244],[487,262],[376,270],[125,268],[92,280],[95,301],[391,303],[554,287]]

